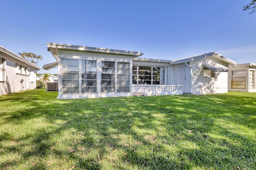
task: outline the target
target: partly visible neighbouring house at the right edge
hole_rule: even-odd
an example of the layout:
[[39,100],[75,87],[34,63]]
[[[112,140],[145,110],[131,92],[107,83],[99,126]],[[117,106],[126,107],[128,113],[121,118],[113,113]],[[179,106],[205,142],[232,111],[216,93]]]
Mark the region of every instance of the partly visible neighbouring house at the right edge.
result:
[[229,91],[256,92],[256,63],[229,66]]

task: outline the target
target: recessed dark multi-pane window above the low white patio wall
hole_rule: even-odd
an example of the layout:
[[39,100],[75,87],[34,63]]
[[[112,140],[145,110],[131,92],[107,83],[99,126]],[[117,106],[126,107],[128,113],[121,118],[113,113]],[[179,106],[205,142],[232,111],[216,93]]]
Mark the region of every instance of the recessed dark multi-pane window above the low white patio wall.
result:
[[132,66],[132,84],[164,85],[164,67]]

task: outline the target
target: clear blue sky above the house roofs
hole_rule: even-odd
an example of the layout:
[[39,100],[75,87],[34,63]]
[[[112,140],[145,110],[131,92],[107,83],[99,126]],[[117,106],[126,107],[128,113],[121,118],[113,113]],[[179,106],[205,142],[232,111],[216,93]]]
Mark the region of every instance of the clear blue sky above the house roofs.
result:
[[55,61],[47,42],[170,60],[216,51],[237,63],[256,63],[256,13],[242,11],[250,2],[1,0],[0,45],[42,55],[39,67]]

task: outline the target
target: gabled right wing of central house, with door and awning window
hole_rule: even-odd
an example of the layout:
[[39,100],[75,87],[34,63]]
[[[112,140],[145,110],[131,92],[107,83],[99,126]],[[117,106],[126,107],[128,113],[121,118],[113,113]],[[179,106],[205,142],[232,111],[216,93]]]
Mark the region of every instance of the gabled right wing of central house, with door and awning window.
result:
[[182,85],[184,93],[206,94],[228,92],[228,67],[236,65],[216,52],[172,60],[173,85]]

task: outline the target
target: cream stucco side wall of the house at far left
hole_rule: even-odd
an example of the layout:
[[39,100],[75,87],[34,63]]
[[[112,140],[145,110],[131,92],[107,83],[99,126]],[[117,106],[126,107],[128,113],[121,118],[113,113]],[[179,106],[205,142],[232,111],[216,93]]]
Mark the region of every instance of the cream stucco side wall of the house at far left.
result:
[[[34,89],[36,87],[35,74],[32,74],[33,77],[31,77],[31,70],[34,72],[35,68],[2,52],[0,52],[0,58],[6,59],[6,81],[0,82],[0,95]],[[17,73],[16,64],[27,67],[27,74]],[[22,83],[20,82],[21,79],[24,80]]]

